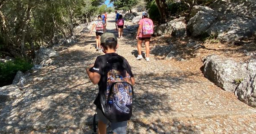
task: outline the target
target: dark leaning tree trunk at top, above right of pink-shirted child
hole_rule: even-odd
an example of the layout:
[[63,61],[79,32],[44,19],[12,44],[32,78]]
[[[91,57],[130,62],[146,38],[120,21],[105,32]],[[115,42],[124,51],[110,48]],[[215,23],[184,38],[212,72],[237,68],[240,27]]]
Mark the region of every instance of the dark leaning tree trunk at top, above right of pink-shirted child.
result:
[[161,22],[164,23],[166,21],[166,15],[167,15],[166,0],[155,0],[155,2],[157,4],[157,8],[160,13]]

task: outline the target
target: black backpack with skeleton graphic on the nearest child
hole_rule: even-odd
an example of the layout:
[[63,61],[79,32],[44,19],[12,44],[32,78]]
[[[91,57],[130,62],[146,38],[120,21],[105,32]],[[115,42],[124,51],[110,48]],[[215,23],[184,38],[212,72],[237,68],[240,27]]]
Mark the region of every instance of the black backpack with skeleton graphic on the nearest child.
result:
[[123,70],[111,68],[107,73],[107,87],[99,94],[102,112],[111,122],[131,119],[133,86],[131,76]]

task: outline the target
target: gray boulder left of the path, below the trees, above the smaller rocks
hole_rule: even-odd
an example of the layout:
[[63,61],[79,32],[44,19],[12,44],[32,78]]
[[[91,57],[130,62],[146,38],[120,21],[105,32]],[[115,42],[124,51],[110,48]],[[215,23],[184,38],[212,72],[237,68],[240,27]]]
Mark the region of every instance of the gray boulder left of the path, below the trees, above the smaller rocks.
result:
[[51,58],[54,58],[57,56],[58,56],[58,53],[50,48],[40,48],[36,52],[33,63],[36,65],[48,66],[49,64],[46,64],[46,63],[53,63],[53,62],[49,62],[49,60],[52,60]]

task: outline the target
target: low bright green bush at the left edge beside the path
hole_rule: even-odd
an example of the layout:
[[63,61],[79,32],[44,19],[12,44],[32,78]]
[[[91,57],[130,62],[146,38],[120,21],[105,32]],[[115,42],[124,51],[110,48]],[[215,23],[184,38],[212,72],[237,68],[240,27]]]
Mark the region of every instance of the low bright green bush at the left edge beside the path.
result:
[[14,79],[17,71],[25,72],[32,68],[32,66],[32,64],[27,63],[22,59],[0,63],[0,87],[12,84],[12,80]]

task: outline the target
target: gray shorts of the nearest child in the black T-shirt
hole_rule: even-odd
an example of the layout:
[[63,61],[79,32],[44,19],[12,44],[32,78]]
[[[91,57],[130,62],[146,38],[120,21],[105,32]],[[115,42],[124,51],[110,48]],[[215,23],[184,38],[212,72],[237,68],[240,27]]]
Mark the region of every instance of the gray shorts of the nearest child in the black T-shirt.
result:
[[[110,123],[110,121],[102,114],[102,111],[98,108],[97,108],[97,114],[98,114],[99,120],[101,120],[103,123],[105,124]],[[111,130],[116,134],[126,134],[126,128],[127,128],[127,121],[111,123]]]

